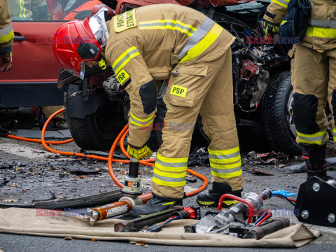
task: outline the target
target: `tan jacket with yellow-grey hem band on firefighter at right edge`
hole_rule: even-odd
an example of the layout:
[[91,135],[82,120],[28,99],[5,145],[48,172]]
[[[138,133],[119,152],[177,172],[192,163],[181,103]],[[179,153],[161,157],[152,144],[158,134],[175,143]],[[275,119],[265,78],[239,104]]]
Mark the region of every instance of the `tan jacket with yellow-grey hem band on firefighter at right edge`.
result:
[[[314,50],[336,48],[336,1],[309,0],[311,3],[311,20],[308,21],[306,34],[300,45]],[[264,20],[281,24],[287,13],[289,0],[272,0]]]

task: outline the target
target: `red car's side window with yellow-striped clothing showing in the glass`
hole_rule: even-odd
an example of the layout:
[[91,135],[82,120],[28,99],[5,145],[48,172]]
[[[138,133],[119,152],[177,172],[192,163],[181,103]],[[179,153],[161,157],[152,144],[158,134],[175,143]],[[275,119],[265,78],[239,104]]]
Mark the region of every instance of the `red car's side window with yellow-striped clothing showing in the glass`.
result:
[[12,20],[47,20],[46,0],[10,0],[9,13]]

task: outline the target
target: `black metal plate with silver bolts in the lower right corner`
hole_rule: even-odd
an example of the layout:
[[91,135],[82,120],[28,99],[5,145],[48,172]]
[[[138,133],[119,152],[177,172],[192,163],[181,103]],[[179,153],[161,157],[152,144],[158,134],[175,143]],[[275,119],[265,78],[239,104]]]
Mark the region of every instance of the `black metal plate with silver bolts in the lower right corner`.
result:
[[336,228],[336,177],[314,176],[302,183],[294,214],[304,223]]

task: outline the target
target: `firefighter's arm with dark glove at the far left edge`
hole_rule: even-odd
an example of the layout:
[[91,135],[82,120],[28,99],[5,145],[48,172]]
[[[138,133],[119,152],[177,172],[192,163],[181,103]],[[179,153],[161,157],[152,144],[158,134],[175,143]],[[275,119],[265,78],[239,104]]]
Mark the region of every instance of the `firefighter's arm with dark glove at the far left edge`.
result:
[[7,0],[0,0],[0,72],[9,71],[12,67],[13,38]]

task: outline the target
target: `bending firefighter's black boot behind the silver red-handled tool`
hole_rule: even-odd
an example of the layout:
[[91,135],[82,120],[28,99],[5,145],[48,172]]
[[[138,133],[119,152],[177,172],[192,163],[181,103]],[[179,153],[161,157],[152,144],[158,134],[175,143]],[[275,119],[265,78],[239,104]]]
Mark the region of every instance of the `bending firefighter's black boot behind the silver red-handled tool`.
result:
[[[197,204],[202,207],[217,207],[219,198],[225,193],[230,193],[231,195],[235,195],[237,197],[241,197],[242,190],[231,190],[231,186],[227,183],[218,183],[213,182],[212,188],[207,191],[203,191],[197,195]],[[223,201],[223,208],[230,207],[231,204],[237,203],[235,200],[226,199]]]

